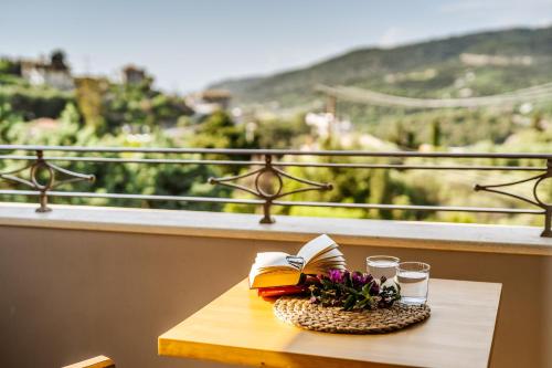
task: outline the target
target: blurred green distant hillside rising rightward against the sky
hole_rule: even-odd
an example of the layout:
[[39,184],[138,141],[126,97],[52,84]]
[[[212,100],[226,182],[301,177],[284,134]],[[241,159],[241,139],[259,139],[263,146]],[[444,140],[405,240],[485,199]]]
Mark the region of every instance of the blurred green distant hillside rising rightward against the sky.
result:
[[[308,67],[211,87],[233,93],[234,104],[294,107],[320,98],[316,84],[455,97],[490,95],[552,81],[552,27],[482,32],[402,45],[359,49]],[[352,114],[358,115],[358,114]]]

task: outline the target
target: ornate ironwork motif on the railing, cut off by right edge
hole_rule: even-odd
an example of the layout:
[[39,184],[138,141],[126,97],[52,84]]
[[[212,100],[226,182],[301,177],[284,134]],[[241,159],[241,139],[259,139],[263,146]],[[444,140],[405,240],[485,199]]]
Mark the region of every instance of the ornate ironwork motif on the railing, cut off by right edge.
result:
[[[543,174],[540,174],[538,176],[530,177],[527,179],[516,180],[516,181],[510,181],[510,182],[505,182],[505,183],[499,183],[499,185],[490,185],[490,186],[476,185],[474,187],[474,189],[476,191],[488,191],[488,192],[492,192],[492,193],[497,193],[497,194],[508,196],[508,197],[519,199],[521,201],[524,201],[527,203],[530,203],[530,204],[533,204],[533,206],[541,208],[543,210],[542,213],[544,214],[544,230],[542,231],[541,236],[552,238],[552,203],[544,202],[539,197],[539,193],[538,193],[539,186],[544,180],[551,179],[551,178],[552,178],[552,159],[549,158],[546,160],[546,171]],[[511,187],[511,186],[516,186],[516,185],[523,183],[523,182],[530,182],[530,181],[534,181],[533,190],[532,190],[533,198],[527,198],[524,196],[519,196],[519,194],[510,193],[508,191],[495,189],[495,188]]]

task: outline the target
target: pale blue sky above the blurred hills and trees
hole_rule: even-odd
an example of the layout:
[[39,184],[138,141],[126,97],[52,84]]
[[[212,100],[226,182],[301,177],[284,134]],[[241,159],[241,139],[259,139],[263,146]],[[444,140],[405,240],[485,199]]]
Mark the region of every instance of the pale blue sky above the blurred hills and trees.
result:
[[362,46],[552,24],[552,0],[0,0],[0,55],[63,49],[76,74],[144,66],[190,92]]

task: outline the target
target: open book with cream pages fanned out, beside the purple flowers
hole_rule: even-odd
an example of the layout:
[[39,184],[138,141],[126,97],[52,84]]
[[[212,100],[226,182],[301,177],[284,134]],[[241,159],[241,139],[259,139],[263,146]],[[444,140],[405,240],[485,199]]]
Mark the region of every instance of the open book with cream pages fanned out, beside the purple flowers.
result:
[[327,273],[331,269],[344,270],[346,261],[338,244],[322,234],[305,244],[297,255],[257,253],[250,272],[250,287],[297,285],[301,274]]

